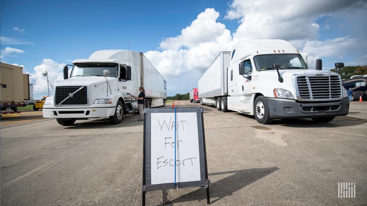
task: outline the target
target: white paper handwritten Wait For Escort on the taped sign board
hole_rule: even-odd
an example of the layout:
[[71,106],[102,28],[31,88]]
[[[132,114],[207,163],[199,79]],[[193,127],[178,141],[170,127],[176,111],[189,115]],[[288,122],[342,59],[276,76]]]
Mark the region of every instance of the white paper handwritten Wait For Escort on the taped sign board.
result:
[[152,185],[174,183],[175,167],[177,183],[200,181],[199,137],[197,133],[196,113],[176,113],[176,122],[174,113],[152,113]]

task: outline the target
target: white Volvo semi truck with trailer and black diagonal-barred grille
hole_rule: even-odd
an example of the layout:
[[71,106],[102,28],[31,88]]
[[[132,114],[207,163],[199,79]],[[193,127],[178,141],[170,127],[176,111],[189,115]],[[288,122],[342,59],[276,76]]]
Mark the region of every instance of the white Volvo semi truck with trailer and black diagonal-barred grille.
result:
[[77,119],[109,117],[119,124],[138,110],[138,88],[145,89],[145,107],[164,106],[166,80],[143,55],[128,50],[99,50],[88,59],[73,61],[71,73],[65,66],[64,80],[46,98],[43,117],[56,118],[61,125]]

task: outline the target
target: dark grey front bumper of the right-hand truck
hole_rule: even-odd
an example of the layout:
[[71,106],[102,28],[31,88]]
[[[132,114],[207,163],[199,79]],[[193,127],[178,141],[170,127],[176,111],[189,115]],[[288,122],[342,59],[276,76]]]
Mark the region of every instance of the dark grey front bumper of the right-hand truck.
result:
[[313,118],[344,116],[349,112],[349,99],[327,103],[299,103],[267,99],[270,118]]

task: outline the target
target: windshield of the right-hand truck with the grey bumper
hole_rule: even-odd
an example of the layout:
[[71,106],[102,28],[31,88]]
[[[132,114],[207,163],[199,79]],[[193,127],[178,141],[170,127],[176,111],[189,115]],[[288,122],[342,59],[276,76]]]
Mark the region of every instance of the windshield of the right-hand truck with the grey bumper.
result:
[[273,64],[279,64],[280,69],[307,69],[307,65],[299,54],[265,54],[254,56],[256,70],[272,69]]

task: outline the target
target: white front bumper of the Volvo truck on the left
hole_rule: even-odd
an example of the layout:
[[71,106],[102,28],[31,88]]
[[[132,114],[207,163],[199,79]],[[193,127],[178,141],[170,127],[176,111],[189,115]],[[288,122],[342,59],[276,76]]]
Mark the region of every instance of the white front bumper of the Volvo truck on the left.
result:
[[44,118],[86,119],[110,117],[115,114],[116,107],[104,108],[43,108]]

